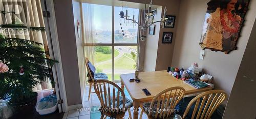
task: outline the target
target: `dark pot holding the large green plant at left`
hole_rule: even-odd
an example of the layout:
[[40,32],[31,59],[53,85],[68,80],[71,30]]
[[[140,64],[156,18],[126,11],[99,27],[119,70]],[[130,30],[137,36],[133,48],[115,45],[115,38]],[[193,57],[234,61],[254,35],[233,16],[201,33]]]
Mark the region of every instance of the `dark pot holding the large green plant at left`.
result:
[[34,97],[32,97],[30,100],[27,100],[26,102],[21,102],[21,103],[10,102],[10,105],[13,107],[16,114],[26,114],[34,110],[37,102],[38,94],[36,92],[32,92],[32,93],[34,93]]

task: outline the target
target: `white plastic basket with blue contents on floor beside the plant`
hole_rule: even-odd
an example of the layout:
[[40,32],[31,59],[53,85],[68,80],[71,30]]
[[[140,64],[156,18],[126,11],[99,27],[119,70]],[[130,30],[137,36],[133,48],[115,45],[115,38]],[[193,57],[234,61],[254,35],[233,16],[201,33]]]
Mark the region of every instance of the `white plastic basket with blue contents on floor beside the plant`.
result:
[[42,98],[36,106],[36,111],[40,115],[46,115],[55,112],[58,107],[56,95],[49,95]]

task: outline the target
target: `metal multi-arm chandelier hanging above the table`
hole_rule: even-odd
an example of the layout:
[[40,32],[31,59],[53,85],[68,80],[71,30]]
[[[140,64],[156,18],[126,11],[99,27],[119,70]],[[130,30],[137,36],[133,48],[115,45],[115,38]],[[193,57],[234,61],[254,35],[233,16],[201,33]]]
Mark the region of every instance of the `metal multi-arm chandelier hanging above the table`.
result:
[[[145,13],[145,19],[144,19],[144,23],[140,24],[139,22],[137,22],[135,19],[134,19],[134,15],[133,15],[133,19],[130,19],[128,16],[128,11],[127,9],[125,10],[125,15],[123,13],[123,11],[120,12],[120,18],[124,18],[125,20],[131,20],[133,23],[137,23],[139,25],[139,28],[141,29],[141,31],[144,33],[146,31],[146,29],[148,27],[150,27],[152,24],[154,23],[157,23],[157,22],[161,22],[161,26],[163,28],[164,26],[164,22],[168,19],[166,18],[166,7],[164,8],[164,13],[163,13],[163,18],[161,18],[160,21],[152,21],[150,20],[150,17],[153,16],[153,14],[151,13],[151,7],[152,7],[152,0],[150,2],[150,4],[148,5],[148,10],[147,10],[147,13]],[[146,6],[145,6],[145,11],[146,11]]]

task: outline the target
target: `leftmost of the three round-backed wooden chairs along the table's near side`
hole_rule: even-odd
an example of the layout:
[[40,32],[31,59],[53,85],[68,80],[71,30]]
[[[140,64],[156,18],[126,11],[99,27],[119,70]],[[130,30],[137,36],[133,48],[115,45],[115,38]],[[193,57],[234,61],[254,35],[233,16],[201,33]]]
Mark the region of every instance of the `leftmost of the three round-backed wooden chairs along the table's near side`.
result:
[[129,112],[129,118],[132,118],[130,108],[133,101],[125,98],[123,90],[117,84],[109,80],[96,80],[93,86],[100,100],[101,118],[123,118],[126,111]]

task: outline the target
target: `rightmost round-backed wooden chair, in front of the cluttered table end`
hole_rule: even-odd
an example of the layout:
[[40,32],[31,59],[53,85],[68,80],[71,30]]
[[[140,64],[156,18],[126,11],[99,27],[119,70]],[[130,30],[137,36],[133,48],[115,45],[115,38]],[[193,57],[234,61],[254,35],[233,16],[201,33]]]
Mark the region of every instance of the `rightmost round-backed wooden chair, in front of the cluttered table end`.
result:
[[210,118],[212,113],[214,113],[214,111],[226,99],[226,97],[227,94],[223,90],[212,90],[204,92],[196,96],[188,103],[182,118],[187,116],[191,106],[195,103],[195,107],[192,109],[193,113],[191,118],[195,118],[195,116],[196,118]]

